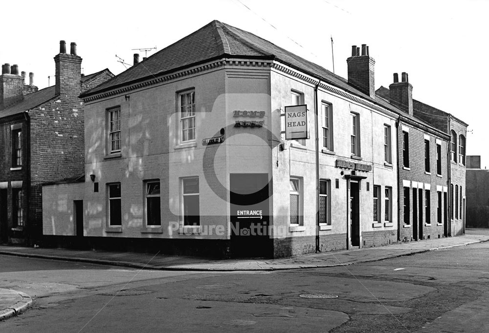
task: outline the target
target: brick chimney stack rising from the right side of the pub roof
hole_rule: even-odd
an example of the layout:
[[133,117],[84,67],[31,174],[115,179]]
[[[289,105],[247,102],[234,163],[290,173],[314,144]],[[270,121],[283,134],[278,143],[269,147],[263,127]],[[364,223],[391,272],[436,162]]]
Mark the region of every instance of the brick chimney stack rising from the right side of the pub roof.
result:
[[360,48],[353,45],[352,56],[346,62],[348,64],[348,84],[371,98],[375,98],[375,60],[369,55],[369,47],[362,44],[360,55]]

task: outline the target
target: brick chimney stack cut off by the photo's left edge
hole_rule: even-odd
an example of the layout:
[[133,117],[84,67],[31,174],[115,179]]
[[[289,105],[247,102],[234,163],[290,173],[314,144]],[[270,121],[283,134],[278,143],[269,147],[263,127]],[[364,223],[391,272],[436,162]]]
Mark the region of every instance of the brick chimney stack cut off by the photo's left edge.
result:
[[24,78],[19,75],[19,66],[5,63],[0,75],[0,111],[23,100]]

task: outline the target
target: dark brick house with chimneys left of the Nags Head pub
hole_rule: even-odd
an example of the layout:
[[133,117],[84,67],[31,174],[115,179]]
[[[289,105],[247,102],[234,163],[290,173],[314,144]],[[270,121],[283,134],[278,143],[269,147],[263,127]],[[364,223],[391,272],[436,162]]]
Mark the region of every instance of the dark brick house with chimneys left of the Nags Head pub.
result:
[[[42,235],[41,184],[84,174],[84,105],[81,92],[113,74],[83,76],[76,44],[60,42],[56,84],[38,90],[29,73],[2,65],[0,76],[0,242],[33,244]],[[48,198],[47,198],[48,199]]]

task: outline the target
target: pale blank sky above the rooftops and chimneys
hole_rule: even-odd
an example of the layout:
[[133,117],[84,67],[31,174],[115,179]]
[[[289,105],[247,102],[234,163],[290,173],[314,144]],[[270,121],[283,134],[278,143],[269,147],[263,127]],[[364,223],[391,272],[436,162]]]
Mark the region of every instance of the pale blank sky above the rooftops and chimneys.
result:
[[[76,6],[75,6],[76,4]],[[0,63],[54,84],[59,41],[77,43],[82,73],[119,74],[134,49],[156,51],[213,20],[254,33],[347,78],[351,46],[369,45],[375,86],[407,72],[413,98],[467,123],[467,155],[489,167],[489,0],[22,1],[1,16]],[[331,44],[333,38],[333,49]],[[117,57],[119,58],[117,58]],[[48,81],[48,77],[51,77]]]

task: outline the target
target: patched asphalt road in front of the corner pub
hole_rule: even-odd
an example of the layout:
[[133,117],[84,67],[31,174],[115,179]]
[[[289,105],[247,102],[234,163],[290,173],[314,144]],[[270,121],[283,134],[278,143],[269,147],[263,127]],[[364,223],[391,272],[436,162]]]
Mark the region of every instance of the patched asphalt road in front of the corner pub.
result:
[[34,299],[0,332],[489,332],[488,258],[479,243],[327,269],[192,273],[0,256],[0,288]]

